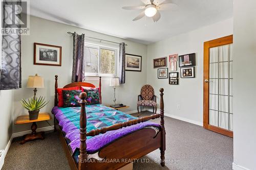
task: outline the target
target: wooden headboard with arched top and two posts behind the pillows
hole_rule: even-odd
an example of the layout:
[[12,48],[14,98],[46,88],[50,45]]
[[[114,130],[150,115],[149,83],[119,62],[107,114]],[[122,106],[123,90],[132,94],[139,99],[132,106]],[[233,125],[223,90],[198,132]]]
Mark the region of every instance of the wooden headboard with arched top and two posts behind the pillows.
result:
[[[93,85],[92,83],[87,83],[87,82],[74,82],[74,83],[70,83],[67,84],[66,86],[64,86],[63,88],[68,88],[68,87],[76,87],[76,86],[86,86],[86,87],[96,87],[95,85]],[[54,106],[58,105],[58,92],[57,92],[57,88],[58,88],[58,75],[55,75],[55,98],[54,98]],[[99,77],[99,101],[101,104],[101,77]]]

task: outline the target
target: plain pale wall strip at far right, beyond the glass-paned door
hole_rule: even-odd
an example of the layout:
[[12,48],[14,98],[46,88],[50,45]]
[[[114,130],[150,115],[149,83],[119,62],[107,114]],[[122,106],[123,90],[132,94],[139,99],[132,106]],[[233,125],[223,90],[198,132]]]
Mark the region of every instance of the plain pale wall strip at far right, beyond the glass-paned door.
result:
[[256,1],[234,0],[233,169],[256,169]]

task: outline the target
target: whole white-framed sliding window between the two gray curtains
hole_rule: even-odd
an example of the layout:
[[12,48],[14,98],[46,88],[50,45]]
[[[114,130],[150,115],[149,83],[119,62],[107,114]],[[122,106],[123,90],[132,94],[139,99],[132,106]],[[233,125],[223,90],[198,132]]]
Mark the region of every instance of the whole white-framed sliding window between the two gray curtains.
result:
[[118,47],[86,43],[84,46],[86,76],[111,77],[116,75],[118,53]]

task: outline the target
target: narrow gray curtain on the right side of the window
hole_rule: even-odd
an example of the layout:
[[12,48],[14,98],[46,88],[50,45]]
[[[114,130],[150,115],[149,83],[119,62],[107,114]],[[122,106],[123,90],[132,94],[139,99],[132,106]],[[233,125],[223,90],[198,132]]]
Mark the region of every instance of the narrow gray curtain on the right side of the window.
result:
[[119,83],[125,83],[125,43],[119,44]]

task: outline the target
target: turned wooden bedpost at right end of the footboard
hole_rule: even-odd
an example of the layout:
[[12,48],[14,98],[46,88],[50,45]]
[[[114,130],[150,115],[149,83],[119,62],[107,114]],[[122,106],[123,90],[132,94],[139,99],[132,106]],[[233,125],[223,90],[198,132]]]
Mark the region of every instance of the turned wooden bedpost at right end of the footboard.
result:
[[161,166],[164,166],[164,151],[165,151],[165,128],[164,128],[164,103],[163,103],[163,88],[160,88],[160,126],[161,126],[161,131],[162,131],[162,143],[161,143]]

